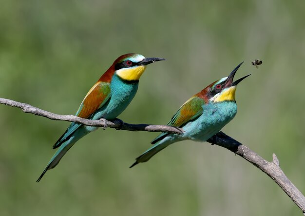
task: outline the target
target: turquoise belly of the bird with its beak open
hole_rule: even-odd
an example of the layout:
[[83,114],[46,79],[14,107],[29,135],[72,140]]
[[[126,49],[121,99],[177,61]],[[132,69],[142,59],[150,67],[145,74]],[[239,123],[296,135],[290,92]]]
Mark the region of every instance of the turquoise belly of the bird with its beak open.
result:
[[235,102],[213,104],[208,108],[205,107],[203,114],[199,118],[183,127],[184,136],[195,141],[207,141],[234,118],[236,111]]

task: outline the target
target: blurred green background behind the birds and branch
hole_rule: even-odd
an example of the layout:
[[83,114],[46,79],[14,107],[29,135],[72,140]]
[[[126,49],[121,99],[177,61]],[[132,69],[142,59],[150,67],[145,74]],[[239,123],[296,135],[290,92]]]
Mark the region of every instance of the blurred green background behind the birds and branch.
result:
[[[267,160],[276,153],[305,192],[305,1],[0,0],[0,97],[75,114],[118,56],[150,65],[119,116],[165,124],[241,61],[238,114],[223,131]],[[256,69],[254,59],[263,64]],[[270,216],[301,211],[265,174],[226,149],[184,141],[133,169],[157,136],[99,129],[36,179],[68,122],[0,106],[0,215]]]

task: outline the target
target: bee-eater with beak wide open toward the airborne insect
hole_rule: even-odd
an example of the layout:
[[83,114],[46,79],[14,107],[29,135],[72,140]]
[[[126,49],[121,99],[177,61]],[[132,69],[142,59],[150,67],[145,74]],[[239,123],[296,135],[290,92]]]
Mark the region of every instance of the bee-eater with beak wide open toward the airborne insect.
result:
[[154,146],[137,157],[130,168],[138,163],[148,161],[174,142],[186,139],[201,142],[207,141],[228,124],[237,112],[235,101],[236,85],[250,76],[249,74],[233,82],[234,75],[242,63],[234,68],[229,77],[211,83],[201,92],[187,100],[173,115],[168,125],[182,128],[184,131],[182,135],[160,134],[152,140]]

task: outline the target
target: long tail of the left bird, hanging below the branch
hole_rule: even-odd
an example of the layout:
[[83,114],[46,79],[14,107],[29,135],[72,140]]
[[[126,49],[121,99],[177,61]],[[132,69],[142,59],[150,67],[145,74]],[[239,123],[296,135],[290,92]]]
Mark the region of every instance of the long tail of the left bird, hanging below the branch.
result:
[[74,134],[72,137],[70,137],[67,141],[63,142],[60,147],[58,148],[57,152],[54,154],[54,156],[49,161],[46,168],[43,170],[40,177],[37,179],[36,182],[39,182],[41,178],[44,176],[44,174],[50,170],[56,167],[56,165],[59,163],[60,159],[69,151],[69,149],[76,143],[77,140],[79,140],[81,137],[85,136],[89,132],[85,131],[85,128],[80,128],[78,133]]

